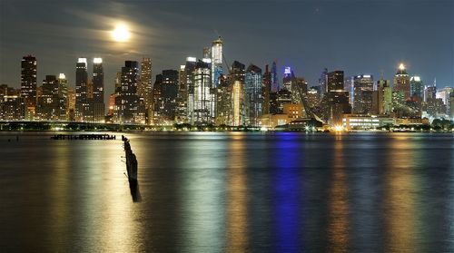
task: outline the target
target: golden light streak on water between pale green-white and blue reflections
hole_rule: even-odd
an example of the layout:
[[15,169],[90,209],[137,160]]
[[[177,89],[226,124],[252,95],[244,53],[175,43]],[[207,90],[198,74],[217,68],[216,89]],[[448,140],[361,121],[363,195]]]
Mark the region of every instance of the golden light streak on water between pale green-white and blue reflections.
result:
[[245,252],[247,233],[247,182],[244,142],[230,141],[227,202],[227,252]]

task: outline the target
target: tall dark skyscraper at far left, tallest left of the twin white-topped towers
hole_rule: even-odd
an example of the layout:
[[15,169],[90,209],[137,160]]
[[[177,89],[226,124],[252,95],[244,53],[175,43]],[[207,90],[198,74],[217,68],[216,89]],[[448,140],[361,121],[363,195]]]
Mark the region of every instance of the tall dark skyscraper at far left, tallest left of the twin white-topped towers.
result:
[[21,96],[24,98],[27,110],[25,118],[32,120],[36,108],[36,58],[27,55],[21,62]]

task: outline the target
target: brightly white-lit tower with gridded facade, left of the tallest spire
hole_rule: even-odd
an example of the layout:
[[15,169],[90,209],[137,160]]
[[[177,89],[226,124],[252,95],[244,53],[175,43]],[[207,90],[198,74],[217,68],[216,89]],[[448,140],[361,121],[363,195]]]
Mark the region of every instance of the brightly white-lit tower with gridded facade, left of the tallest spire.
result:
[[213,121],[211,59],[195,63],[193,92],[193,121],[203,125]]

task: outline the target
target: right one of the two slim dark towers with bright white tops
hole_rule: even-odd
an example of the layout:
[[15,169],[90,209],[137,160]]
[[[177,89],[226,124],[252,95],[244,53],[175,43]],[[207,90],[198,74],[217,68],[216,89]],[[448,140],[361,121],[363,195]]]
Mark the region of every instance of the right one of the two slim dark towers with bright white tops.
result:
[[93,60],[93,100],[92,109],[94,122],[104,122],[104,70],[103,59],[94,58]]

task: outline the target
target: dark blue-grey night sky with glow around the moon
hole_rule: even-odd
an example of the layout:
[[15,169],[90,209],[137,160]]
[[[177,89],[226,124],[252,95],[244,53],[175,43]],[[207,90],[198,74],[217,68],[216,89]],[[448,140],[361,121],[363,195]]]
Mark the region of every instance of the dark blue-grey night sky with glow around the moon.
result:
[[[341,2],[341,3],[340,3]],[[365,2],[365,3],[364,3]],[[44,75],[65,73],[74,87],[78,57],[104,59],[106,96],[124,60],[153,60],[153,76],[178,69],[186,56],[222,35],[224,55],[264,70],[276,60],[310,85],[321,70],[380,73],[392,79],[400,62],[424,83],[454,84],[454,1],[0,1],[0,83],[20,87],[20,62],[38,61]],[[128,43],[112,40],[128,24]],[[89,73],[92,63],[89,63]]]

